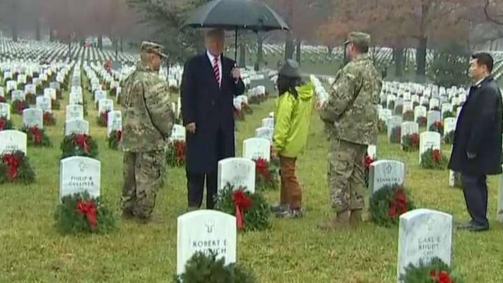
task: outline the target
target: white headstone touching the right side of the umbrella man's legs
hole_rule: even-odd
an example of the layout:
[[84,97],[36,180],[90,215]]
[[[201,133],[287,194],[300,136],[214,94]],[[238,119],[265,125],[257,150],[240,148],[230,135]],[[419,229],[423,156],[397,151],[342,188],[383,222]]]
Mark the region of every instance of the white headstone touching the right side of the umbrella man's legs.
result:
[[231,157],[218,163],[217,188],[224,189],[227,183],[235,189],[245,187],[251,194],[255,192],[255,162],[246,158]]

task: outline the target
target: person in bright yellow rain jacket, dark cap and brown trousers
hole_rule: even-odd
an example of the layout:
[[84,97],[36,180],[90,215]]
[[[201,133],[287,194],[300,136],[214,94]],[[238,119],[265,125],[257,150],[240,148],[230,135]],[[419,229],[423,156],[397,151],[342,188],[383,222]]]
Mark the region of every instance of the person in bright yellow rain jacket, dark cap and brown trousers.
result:
[[302,217],[302,189],[296,176],[296,161],[307,145],[314,90],[312,83],[302,82],[299,65],[291,59],[279,70],[277,89],[272,145],[279,157],[281,192],[279,203],[272,210],[277,217],[297,218]]

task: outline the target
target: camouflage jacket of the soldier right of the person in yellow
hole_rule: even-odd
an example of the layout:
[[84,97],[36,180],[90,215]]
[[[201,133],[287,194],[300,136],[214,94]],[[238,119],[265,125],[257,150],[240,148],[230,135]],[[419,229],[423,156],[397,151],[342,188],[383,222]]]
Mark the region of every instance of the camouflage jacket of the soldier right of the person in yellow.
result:
[[337,73],[320,110],[331,138],[360,145],[376,142],[381,86],[381,77],[367,54],[358,55]]

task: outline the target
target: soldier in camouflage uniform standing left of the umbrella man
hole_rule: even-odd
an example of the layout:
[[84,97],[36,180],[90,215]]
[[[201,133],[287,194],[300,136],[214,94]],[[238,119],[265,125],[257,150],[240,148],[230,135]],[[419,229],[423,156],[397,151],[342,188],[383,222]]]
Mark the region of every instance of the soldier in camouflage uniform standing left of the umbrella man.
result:
[[158,72],[162,46],[143,42],[141,61],[124,84],[122,100],[124,150],[124,217],[150,220],[156,189],[161,183],[165,149],[171,135],[175,114],[170,107],[166,82]]

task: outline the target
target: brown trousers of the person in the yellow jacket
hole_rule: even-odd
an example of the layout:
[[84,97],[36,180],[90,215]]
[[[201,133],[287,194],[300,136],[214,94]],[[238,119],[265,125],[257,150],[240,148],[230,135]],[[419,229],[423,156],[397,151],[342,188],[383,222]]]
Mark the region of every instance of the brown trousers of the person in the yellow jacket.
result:
[[302,189],[296,177],[296,158],[279,156],[279,170],[281,175],[281,191],[279,203],[289,205],[291,209],[301,208]]

